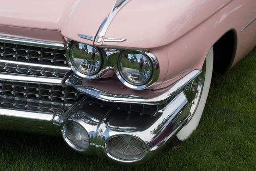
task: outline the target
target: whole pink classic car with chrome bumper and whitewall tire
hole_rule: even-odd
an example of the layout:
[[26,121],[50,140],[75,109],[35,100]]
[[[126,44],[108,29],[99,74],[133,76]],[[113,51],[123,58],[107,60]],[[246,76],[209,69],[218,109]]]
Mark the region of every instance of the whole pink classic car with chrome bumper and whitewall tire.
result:
[[142,163],[197,128],[213,70],[255,45],[255,0],[1,1],[0,128]]

